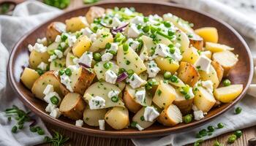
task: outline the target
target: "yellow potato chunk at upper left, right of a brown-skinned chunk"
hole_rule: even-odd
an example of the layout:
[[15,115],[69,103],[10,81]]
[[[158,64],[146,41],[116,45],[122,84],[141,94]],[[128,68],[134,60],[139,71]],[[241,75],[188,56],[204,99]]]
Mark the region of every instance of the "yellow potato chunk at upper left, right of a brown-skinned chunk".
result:
[[82,28],[89,27],[86,18],[81,16],[67,19],[65,22],[69,32],[80,31]]

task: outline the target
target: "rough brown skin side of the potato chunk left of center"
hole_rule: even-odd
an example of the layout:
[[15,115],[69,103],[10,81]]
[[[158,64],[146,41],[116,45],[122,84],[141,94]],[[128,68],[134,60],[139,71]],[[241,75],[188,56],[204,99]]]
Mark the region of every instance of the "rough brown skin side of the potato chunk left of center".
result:
[[86,92],[86,89],[91,85],[94,77],[94,72],[91,72],[88,69],[82,67],[80,77],[78,77],[78,80],[74,86],[74,92],[83,95],[83,93]]

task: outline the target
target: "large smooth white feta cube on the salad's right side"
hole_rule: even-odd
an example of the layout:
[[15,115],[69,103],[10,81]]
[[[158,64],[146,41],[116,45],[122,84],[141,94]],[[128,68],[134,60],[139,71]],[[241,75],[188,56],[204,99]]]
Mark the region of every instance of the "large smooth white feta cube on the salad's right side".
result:
[[207,58],[206,55],[200,55],[197,61],[195,61],[194,66],[208,73],[210,71],[211,59]]

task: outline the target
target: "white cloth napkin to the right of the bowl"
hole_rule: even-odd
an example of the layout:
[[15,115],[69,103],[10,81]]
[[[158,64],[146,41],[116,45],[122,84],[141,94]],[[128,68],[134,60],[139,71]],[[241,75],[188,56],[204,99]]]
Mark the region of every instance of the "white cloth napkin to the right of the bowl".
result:
[[[235,28],[246,39],[252,56],[256,58],[256,1],[255,0],[172,0],[178,4],[184,4],[187,7],[208,12],[215,17],[224,20]],[[254,7],[253,7],[254,5]],[[256,63],[256,59],[255,63]],[[163,146],[163,145],[187,145],[195,142],[195,134],[207,126],[217,126],[217,123],[225,123],[225,128],[217,129],[211,137],[203,137],[202,139],[210,139],[229,131],[246,128],[256,125],[256,77],[252,82],[244,99],[242,99],[236,107],[242,107],[241,114],[234,115],[235,107],[231,108],[225,114],[214,119],[211,123],[195,128],[191,131],[180,132],[178,134],[170,134],[166,137],[156,137],[152,139],[132,139],[136,146]],[[254,96],[254,97],[253,97]]]

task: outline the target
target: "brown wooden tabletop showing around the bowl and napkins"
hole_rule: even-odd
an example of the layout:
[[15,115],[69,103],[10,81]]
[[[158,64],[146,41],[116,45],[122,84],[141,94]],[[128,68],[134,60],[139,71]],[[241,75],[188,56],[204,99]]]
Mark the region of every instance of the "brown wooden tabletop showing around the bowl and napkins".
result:
[[[166,0],[162,0],[162,1],[166,1]],[[75,7],[82,7],[82,6],[83,6],[82,0],[71,0],[71,4],[67,8],[67,10],[74,9]],[[77,134],[75,132],[68,131],[63,128],[59,128],[58,126],[54,126],[50,123],[45,123],[45,124],[48,127],[49,131],[51,130],[59,131],[64,136],[70,137],[70,140],[69,142],[67,142],[67,145],[72,145],[72,146],[82,146],[82,145],[83,146],[85,145],[86,146],[87,145],[89,146],[91,145],[92,146],[110,146],[110,145],[111,146],[130,146],[130,145],[133,145],[130,139],[107,139],[107,138],[99,138],[99,137],[89,137],[83,134]],[[256,126],[251,128],[245,128],[242,131],[243,131],[242,137],[237,139],[236,142],[233,143],[233,145],[245,146],[247,145],[247,141],[249,139],[251,139],[252,137],[256,137]],[[203,142],[202,146],[211,146],[213,145],[215,140],[218,140],[224,145],[228,145],[227,137],[229,137],[230,134],[232,133],[222,134],[219,137],[206,140],[205,142]],[[43,144],[38,146],[48,146],[48,145]]]

